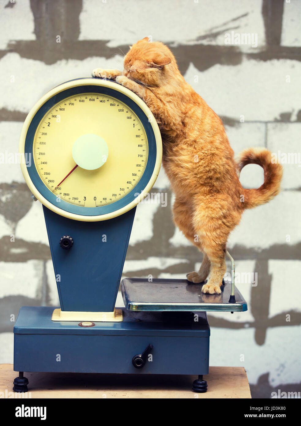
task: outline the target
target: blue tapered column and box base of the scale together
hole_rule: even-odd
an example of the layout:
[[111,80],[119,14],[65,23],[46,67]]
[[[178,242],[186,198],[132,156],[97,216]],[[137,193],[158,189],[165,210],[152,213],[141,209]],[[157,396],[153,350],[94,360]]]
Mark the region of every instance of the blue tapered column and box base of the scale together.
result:
[[[135,208],[103,222],[79,222],[43,206],[57,289],[64,311],[112,311]],[[74,245],[63,250],[62,235]],[[106,235],[106,242],[102,242]],[[129,312],[122,322],[52,321],[54,307],[25,306],[14,326],[14,370],[86,373],[208,374],[210,328],[198,321],[166,321],[162,312]],[[148,344],[152,361],[132,364]],[[59,355],[59,361],[57,361]]]

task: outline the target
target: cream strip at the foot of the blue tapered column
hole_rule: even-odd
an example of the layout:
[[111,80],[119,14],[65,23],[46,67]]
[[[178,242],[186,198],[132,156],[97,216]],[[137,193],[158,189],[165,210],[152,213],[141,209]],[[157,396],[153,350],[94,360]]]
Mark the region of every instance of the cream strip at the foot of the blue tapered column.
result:
[[52,312],[52,321],[97,321],[97,322],[120,322],[123,320],[121,309],[112,312],[82,312],[62,311],[60,308]]

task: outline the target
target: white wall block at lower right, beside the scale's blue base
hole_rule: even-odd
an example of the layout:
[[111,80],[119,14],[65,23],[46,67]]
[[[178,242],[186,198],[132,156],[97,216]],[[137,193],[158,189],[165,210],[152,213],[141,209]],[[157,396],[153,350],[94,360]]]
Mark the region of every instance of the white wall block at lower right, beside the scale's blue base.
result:
[[[296,344],[299,336],[298,326],[271,327],[267,330],[266,342],[259,346],[254,344],[253,328],[211,328],[210,364],[244,367],[252,384],[264,373],[269,373],[270,386],[297,384],[301,380],[300,345]],[[240,361],[241,355],[244,361]]]

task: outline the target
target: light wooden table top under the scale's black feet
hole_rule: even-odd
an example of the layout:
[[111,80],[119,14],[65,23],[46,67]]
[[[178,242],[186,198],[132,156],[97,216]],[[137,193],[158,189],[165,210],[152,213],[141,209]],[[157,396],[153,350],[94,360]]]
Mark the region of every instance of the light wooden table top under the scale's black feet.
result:
[[[13,397],[12,364],[0,365],[0,397]],[[29,398],[251,398],[244,367],[209,367],[208,391],[192,392],[197,376],[170,374],[26,373]]]

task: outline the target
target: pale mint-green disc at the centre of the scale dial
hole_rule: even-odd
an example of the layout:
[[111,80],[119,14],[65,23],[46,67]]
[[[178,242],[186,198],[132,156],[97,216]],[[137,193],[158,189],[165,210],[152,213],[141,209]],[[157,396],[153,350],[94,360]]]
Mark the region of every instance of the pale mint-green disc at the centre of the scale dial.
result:
[[106,141],[94,133],[86,133],[76,139],[72,147],[75,163],[86,170],[95,170],[105,164],[109,155]]

